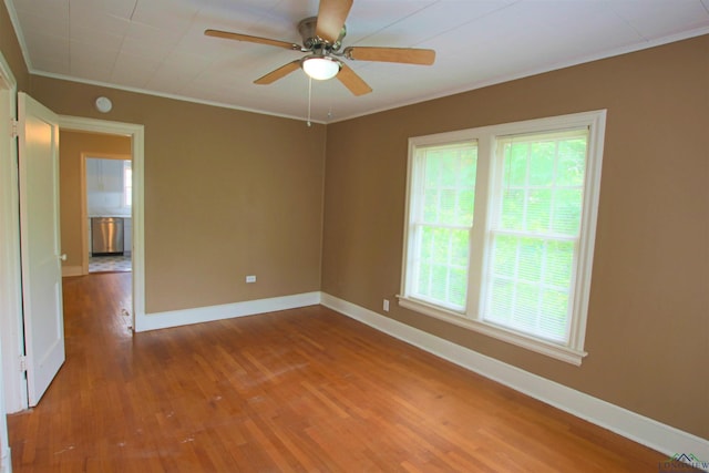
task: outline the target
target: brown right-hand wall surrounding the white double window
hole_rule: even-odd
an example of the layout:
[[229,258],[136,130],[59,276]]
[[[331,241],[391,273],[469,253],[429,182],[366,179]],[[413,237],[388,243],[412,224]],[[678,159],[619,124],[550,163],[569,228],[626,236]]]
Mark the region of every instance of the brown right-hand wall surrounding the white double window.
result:
[[580,368],[392,305],[419,329],[709,439],[709,37],[328,126],[322,290],[401,281],[407,140],[607,109]]

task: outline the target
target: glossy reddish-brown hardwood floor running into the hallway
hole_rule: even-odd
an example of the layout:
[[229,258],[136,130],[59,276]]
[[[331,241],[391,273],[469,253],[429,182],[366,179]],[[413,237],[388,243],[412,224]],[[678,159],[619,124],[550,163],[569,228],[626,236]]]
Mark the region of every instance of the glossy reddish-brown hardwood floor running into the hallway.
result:
[[323,307],[131,336],[130,274],[64,279],[66,362],[20,472],[657,472],[665,455]]

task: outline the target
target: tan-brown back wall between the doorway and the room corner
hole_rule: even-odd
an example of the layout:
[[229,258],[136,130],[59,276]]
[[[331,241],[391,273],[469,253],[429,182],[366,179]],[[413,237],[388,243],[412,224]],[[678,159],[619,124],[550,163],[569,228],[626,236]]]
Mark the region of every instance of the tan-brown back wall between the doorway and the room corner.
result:
[[319,290],[325,126],[42,76],[31,94],[145,125],[148,313]]

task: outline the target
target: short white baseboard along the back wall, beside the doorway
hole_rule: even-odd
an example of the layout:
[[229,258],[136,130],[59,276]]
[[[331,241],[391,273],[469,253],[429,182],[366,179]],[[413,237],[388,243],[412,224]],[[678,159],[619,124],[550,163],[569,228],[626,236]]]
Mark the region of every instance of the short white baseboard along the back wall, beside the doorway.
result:
[[305,292],[268,299],[247,300],[222,306],[199,307],[196,309],[172,310],[166,312],[136,315],[135,331],[156,330],[189,323],[210,322],[234,317],[253,316],[277,310],[320,304],[320,292]]

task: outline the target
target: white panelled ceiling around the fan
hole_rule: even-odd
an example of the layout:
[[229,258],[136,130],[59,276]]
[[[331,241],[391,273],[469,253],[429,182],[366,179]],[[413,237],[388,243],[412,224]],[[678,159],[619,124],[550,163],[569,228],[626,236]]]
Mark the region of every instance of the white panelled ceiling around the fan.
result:
[[[305,119],[308,79],[253,81],[304,53],[204,35],[300,43],[317,0],[6,0],[30,72]],[[343,45],[430,48],[432,66],[348,61],[373,89],[312,82],[336,122],[709,33],[709,0],[354,0]],[[117,104],[116,106],[120,106]]]

